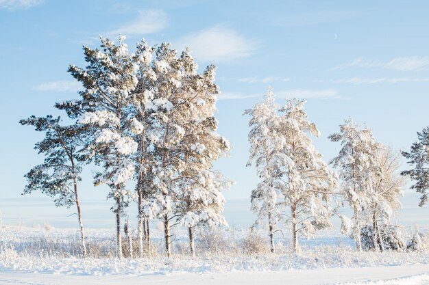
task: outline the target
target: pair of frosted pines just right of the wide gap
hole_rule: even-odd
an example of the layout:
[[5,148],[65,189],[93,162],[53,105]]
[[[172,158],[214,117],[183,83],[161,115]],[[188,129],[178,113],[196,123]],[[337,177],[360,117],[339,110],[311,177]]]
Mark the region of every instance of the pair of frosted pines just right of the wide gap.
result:
[[[252,208],[258,217],[268,217],[271,252],[273,233],[279,221],[291,222],[293,250],[298,251],[298,236],[311,236],[317,228],[330,226],[331,195],[336,175],[308,137],[319,135],[308,122],[303,100],[288,100],[280,108],[272,90],[250,115],[250,159],[262,181],[252,191]],[[279,111],[281,115],[279,115]],[[285,208],[289,208],[286,215]]]

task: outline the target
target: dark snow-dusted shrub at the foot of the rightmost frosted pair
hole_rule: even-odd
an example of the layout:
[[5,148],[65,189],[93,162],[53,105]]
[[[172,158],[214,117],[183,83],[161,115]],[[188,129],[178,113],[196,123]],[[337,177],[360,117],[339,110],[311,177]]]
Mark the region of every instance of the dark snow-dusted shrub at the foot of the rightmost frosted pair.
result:
[[[376,236],[376,245],[378,246],[378,249],[402,252],[406,248],[402,233],[397,226],[382,225],[378,226],[378,228],[383,242],[381,245],[380,237]],[[374,250],[372,226],[364,226],[360,229],[360,240],[362,242],[362,249]]]

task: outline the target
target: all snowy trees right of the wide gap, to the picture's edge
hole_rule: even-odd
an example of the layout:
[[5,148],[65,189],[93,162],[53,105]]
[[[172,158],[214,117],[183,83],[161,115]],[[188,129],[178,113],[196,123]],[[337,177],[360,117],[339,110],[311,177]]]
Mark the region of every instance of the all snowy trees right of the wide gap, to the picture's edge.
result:
[[[281,231],[282,223],[289,223],[293,251],[298,252],[298,236],[308,238],[331,226],[334,215],[341,219],[341,232],[356,241],[356,249],[362,250],[361,236],[370,230],[371,248],[383,251],[391,240],[390,219],[401,207],[405,184],[399,172],[400,153],[376,141],[369,128],[346,120],[339,133],[329,136],[341,143],[339,154],[329,163],[338,173],[332,172],[312,145],[309,136],[318,137],[319,131],[308,122],[304,104],[292,99],[280,107],[269,89],[262,102],[245,111],[251,116],[247,165],[254,163],[261,178],[252,191],[252,209],[258,214],[257,223],[268,221],[271,252],[273,234]],[[428,199],[428,134],[425,128],[411,152],[402,152],[415,165],[402,175],[417,180],[412,188],[423,194],[420,206]],[[339,213],[344,203],[352,208],[352,219]]]

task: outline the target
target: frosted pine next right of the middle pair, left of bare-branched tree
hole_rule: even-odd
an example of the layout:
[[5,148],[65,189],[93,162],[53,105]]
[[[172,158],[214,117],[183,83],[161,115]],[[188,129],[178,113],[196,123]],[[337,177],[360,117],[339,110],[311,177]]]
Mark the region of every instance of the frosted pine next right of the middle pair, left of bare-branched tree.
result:
[[365,209],[371,206],[372,196],[376,193],[374,186],[381,174],[377,159],[382,145],[376,142],[369,128],[360,128],[351,119],[341,124],[340,132],[330,135],[329,139],[341,142],[339,155],[330,164],[339,169],[341,192],[353,210],[352,223],[341,216],[341,231],[346,233],[352,230],[356,249],[361,251],[360,229],[367,223]]

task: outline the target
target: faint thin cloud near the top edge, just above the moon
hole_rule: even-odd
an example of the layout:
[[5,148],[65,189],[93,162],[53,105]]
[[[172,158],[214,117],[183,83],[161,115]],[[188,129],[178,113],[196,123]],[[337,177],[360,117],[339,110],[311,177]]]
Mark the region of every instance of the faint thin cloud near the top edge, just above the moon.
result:
[[319,11],[307,13],[282,14],[281,16],[271,16],[268,25],[277,27],[305,27],[323,23],[350,20],[360,18],[369,14],[368,12],[351,11]]

